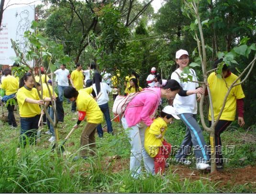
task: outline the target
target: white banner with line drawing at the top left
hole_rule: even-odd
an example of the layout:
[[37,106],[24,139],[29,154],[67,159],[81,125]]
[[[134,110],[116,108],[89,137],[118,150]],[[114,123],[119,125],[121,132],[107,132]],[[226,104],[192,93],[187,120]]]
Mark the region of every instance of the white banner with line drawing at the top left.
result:
[[11,39],[18,42],[21,51],[26,53],[26,39],[23,35],[25,31],[33,31],[30,26],[34,17],[34,5],[4,10],[2,30],[0,31],[0,64],[9,65],[14,63],[10,59],[10,57],[16,56],[11,48]]

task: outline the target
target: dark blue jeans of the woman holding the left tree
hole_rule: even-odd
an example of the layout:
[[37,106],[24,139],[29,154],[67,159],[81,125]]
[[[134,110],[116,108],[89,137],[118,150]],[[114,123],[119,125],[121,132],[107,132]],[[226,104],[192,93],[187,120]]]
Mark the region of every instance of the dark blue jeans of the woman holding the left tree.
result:
[[34,117],[21,117],[21,136],[19,147],[24,147],[26,145],[26,137],[29,138],[29,142],[31,144],[35,142],[39,119],[40,114]]

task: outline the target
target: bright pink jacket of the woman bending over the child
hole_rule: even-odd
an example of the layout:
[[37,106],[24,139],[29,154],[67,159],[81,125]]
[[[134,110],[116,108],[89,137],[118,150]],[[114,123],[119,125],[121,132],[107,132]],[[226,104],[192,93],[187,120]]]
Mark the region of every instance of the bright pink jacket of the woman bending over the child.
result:
[[[127,105],[124,112],[126,122],[128,127],[134,126],[140,122],[144,122],[147,126],[153,123],[150,118],[155,110],[157,109],[160,99],[161,99],[161,88],[146,88],[144,91],[154,91],[154,92],[142,92],[137,94],[134,99]],[[156,95],[157,94],[157,95]],[[136,106],[140,105],[140,106]],[[136,106],[128,108],[129,106]]]

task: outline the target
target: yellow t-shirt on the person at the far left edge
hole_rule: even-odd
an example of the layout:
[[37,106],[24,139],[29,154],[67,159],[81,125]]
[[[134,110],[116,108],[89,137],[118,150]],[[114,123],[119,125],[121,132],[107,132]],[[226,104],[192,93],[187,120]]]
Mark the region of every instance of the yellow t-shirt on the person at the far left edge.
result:
[[7,75],[3,80],[1,87],[5,90],[5,95],[11,95],[17,92],[19,89],[19,83],[15,77]]

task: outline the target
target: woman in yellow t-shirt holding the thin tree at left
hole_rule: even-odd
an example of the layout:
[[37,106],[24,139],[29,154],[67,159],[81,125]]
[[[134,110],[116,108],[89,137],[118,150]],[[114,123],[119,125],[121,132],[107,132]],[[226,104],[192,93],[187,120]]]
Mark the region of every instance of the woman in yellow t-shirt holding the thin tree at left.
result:
[[[19,111],[21,116],[21,136],[20,146],[26,145],[26,136],[29,138],[30,143],[35,142],[36,132],[38,129],[38,122],[40,118],[40,106],[45,102],[50,102],[49,97],[43,97],[40,100],[38,92],[34,87],[33,77],[30,72],[27,72],[21,79],[19,90],[17,92],[17,101],[19,104]],[[56,99],[55,96],[53,96]]]

